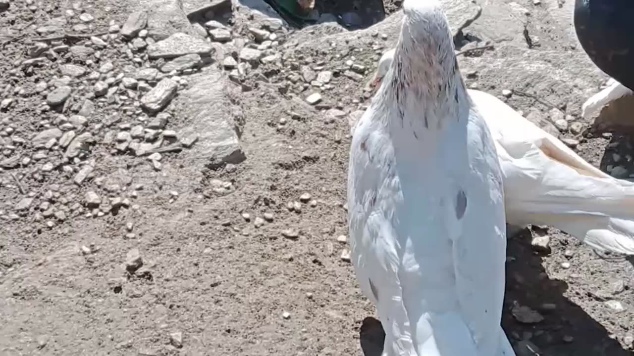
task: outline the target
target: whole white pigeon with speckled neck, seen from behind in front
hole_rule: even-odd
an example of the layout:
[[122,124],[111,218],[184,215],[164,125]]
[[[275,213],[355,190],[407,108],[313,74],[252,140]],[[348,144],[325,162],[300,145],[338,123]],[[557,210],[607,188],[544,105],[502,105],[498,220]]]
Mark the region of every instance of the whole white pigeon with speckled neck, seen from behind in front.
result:
[[437,0],[405,0],[385,80],[351,143],[352,262],[383,355],[513,356],[500,326],[500,163]]

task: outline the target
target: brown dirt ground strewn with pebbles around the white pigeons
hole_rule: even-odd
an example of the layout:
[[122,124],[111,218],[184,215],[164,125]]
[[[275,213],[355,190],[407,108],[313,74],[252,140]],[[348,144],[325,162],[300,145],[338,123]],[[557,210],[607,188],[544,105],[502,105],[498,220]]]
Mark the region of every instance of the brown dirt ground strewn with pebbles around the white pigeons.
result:
[[[631,177],[631,137],[580,118],[605,75],[574,46],[564,4],[483,1],[456,44],[493,48],[461,56],[463,75],[498,97],[512,90],[505,100],[524,115],[561,115],[555,130],[581,156]],[[134,73],[169,58],[148,57],[151,31],[120,35],[136,10],[0,0],[0,355],[379,354],[373,306],[346,258],[348,118],[364,110],[394,35],[277,28],[234,7],[233,18],[214,14],[234,39],[216,58],[147,79]],[[227,59],[242,64],[243,39],[262,46],[246,73]],[[197,120],[188,88],[209,73],[221,73],[228,104],[208,116],[235,122],[223,137],[238,137],[243,159],[210,164],[204,139],[186,143]],[[148,112],[161,77],[178,94]],[[139,154],[157,139],[163,149]],[[633,355],[633,273],[554,229],[511,236],[502,324],[518,355]]]

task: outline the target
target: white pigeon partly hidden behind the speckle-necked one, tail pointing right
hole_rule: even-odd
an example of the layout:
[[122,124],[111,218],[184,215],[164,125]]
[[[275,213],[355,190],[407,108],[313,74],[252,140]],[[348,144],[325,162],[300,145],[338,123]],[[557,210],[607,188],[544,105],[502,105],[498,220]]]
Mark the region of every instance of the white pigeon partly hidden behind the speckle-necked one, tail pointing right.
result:
[[[383,54],[373,85],[393,58],[394,49]],[[633,183],[593,167],[495,96],[467,92],[495,140],[507,224],[553,226],[597,250],[634,254]]]

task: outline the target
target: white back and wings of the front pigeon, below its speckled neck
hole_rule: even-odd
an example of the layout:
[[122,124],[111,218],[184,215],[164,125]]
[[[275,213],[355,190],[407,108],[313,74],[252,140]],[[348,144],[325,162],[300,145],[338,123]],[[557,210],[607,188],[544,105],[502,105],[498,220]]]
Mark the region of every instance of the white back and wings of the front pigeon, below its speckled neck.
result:
[[[514,355],[500,326],[505,219],[486,125],[469,124],[462,165],[469,179],[453,179],[454,168],[441,165],[425,181],[407,182],[402,172],[413,167],[396,167],[391,137],[372,115],[361,117],[351,144],[349,232],[357,280],[385,329],[384,353]],[[445,142],[436,161],[460,167],[454,149],[456,142]]]

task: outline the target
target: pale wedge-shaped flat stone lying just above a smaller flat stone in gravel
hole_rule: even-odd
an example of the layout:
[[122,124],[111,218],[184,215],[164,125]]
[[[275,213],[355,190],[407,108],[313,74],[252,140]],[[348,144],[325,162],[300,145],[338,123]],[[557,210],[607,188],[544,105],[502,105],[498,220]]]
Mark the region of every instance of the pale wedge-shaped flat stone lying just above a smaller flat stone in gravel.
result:
[[152,59],[174,58],[191,53],[209,56],[212,51],[213,48],[209,42],[182,32],[148,46],[148,56]]

